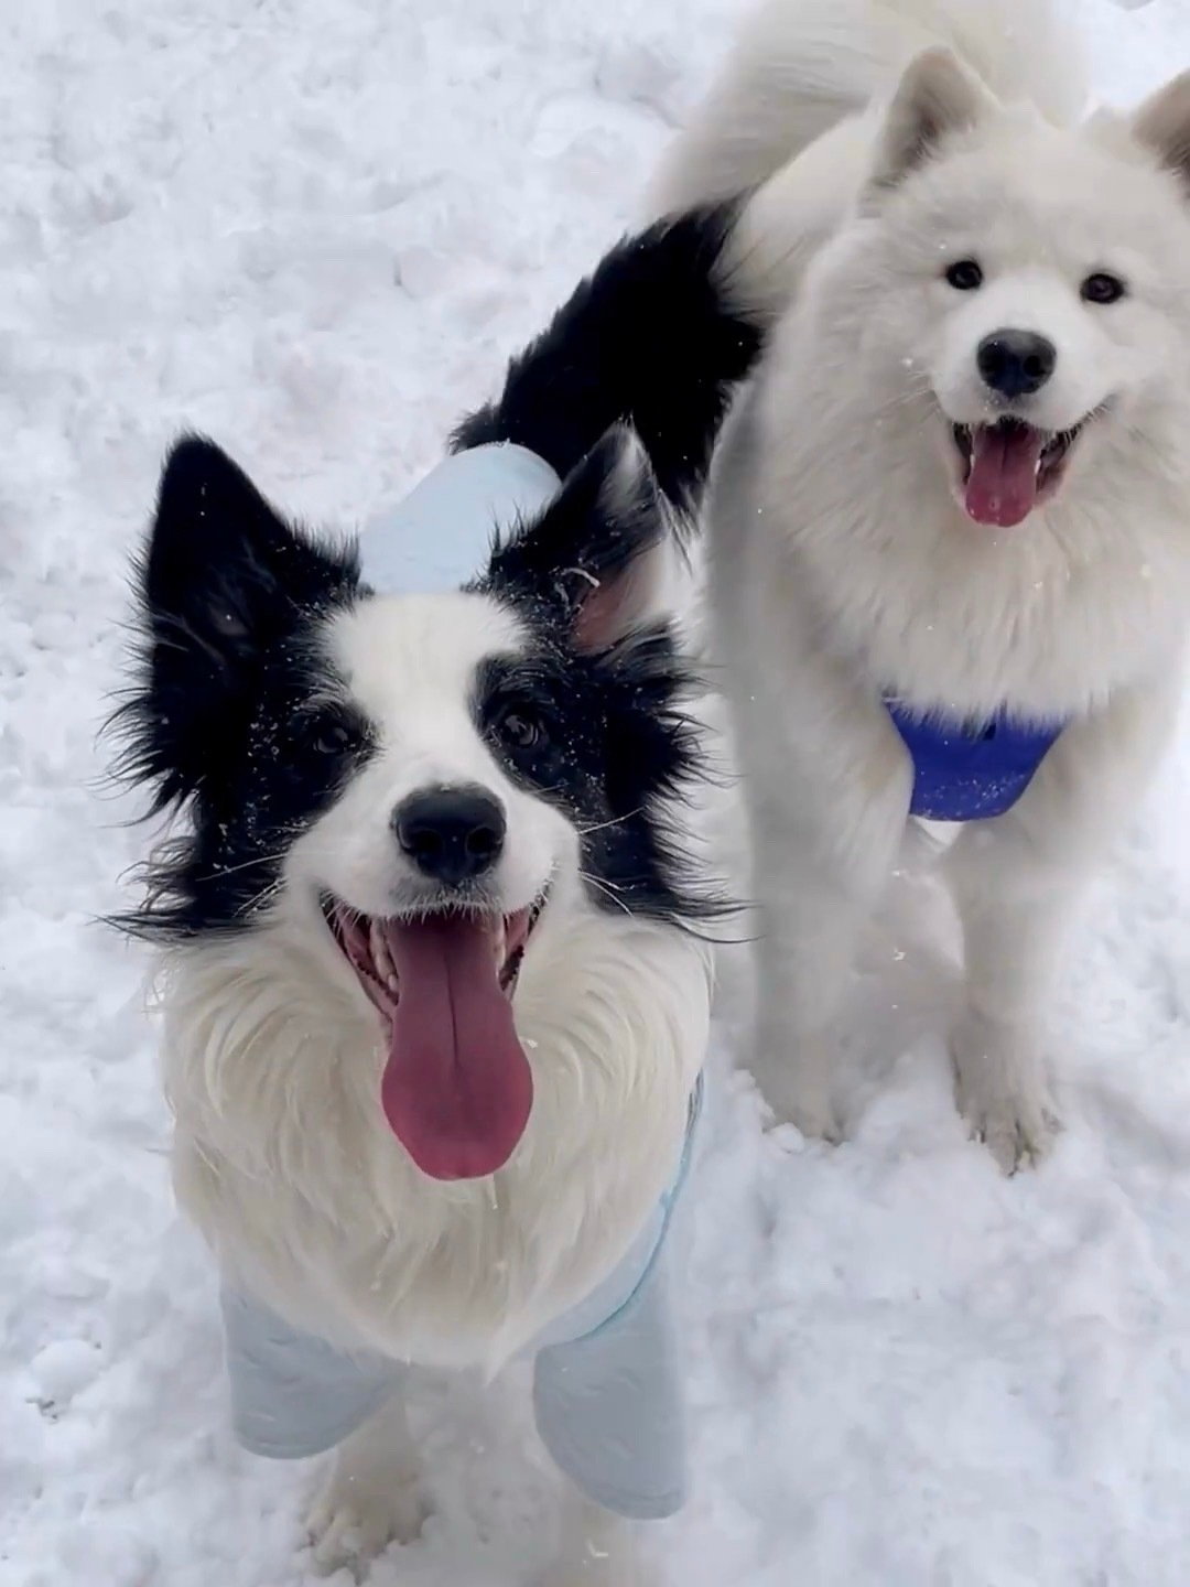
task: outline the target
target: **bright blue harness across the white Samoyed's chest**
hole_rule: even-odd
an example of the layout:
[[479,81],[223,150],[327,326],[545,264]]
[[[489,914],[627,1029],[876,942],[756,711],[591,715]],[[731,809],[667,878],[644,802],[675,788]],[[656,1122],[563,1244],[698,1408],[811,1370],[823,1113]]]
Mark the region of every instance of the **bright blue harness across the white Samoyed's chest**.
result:
[[977,724],[920,716],[885,700],[914,763],[909,814],[927,820],[988,820],[1012,809],[1065,722],[1020,722],[1008,711]]

